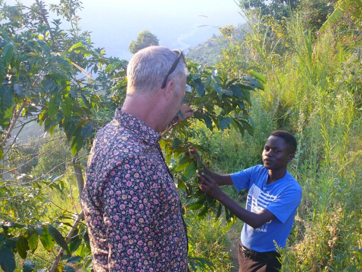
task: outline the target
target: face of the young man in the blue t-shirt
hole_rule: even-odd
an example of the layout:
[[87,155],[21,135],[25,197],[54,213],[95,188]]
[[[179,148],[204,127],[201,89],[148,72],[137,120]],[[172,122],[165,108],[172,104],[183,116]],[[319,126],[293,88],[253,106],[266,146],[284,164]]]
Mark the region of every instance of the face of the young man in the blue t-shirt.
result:
[[287,168],[288,162],[292,160],[294,153],[290,153],[290,146],[278,136],[269,136],[264,145],[262,159],[264,167],[269,170]]

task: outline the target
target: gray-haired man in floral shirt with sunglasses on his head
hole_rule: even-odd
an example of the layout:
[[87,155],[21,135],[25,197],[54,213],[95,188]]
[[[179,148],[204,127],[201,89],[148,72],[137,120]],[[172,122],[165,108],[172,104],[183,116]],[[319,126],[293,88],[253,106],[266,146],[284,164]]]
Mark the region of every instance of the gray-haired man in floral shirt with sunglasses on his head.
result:
[[94,271],[188,271],[186,225],[165,164],[160,132],[193,112],[184,55],[163,46],[138,51],[127,94],[89,154],[82,195]]

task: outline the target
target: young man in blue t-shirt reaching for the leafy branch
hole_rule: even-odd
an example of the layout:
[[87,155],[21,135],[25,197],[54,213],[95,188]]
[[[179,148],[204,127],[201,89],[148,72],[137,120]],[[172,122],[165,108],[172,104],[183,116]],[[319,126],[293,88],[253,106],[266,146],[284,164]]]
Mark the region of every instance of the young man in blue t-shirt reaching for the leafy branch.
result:
[[[204,166],[207,174],[198,174],[200,189],[226,206],[244,221],[239,243],[239,272],[278,271],[281,267],[274,241],[285,247],[302,188],[287,172],[287,164],[296,151],[295,137],[286,131],[274,131],[262,153],[264,165],[237,173],[220,175]],[[191,153],[197,154],[194,148]],[[234,185],[248,189],[246,209],[237,205],[219,186]]]

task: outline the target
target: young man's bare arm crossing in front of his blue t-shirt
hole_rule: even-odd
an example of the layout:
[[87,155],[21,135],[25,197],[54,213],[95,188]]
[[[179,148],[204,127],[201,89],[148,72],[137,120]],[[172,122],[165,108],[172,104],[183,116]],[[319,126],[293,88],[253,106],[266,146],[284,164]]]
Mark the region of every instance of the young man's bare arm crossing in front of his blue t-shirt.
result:
[[[230,176],[230,175],[229,175]],[[252,228],[257,228],[275,218],[267,209],[262,210],[260,213],[253,213],[237,205],[230,197],[225,194],[218,184],[209,176],[204,173],[197,175],[201,180],[200,189],[206,194],[210,195],[220,201],[225,207],[227,207],[233,214],[236,215],[241,221],[244,221]]]

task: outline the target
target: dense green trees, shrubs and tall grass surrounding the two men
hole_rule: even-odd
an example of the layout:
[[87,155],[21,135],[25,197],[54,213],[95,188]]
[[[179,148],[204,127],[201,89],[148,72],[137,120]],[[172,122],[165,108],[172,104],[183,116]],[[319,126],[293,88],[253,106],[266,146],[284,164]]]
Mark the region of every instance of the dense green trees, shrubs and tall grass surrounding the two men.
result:
[[[242,223],[200,193],[199,162],[184,151],[192,144],[213,170],[236,172],[260,164],[269,133],[285,129],[298,140],[289,171],[303,197],[280,249],[282,270],[361,271],[362,2],[293,1],[289,9],[286,1],[258,2],[241,5],[242,40],[234,28],[220,29],[215,67],[188,63],[193,90],[186,102],[197,113],[161,141],[186,208],[190,268],[237,267],[233,252]],[[80,33],[74,16],[80,7],[77,0],[51,5],[72,22],[65,31],[59,20],[46,20],[38,1],[30,9],[0,1],[5,271],[92,269],[78,191],[94,133],[122,104],[127,63],[104,57],[89,33]],[[28,121],[43,124],[47,134],[18,141],[12,129]],[[224,190],[244,205],[245,192]]]

